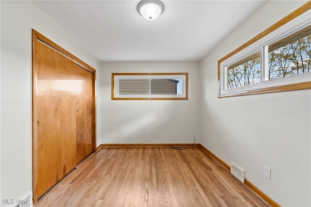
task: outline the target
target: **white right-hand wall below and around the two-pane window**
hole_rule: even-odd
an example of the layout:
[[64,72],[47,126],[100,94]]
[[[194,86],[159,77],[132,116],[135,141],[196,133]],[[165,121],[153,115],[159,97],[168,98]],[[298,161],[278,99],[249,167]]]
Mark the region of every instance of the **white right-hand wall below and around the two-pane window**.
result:
[[305,2],[268,1],[201,61],[201,143],[281,206],[311,206],[311,90],[217,98],[217,61]]

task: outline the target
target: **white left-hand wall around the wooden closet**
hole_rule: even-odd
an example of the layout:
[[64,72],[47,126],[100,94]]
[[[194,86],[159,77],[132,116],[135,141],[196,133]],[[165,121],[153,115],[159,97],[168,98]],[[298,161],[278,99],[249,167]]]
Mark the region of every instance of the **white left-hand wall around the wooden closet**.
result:
[[100,62],[33,2],[1,0],[0,4],[2,202],[32,191],[32,29],[95,69],[100,68]]

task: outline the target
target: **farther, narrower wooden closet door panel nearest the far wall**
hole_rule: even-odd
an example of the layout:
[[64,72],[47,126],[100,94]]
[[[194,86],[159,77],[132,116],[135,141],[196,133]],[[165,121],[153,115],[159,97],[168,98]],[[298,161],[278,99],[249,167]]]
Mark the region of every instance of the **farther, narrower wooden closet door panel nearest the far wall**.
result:
[[93,152],[94,104],[93,104],[93,74],[76,65],[76,80],[79,83],[76,103],[76,144],[77,163]]

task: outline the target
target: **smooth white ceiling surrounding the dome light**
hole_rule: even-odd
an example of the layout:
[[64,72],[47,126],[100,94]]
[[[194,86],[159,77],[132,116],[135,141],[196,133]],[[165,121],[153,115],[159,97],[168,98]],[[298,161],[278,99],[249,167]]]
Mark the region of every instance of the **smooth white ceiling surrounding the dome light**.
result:
[[33,1],[100,61],[199,61],[263,0],[162,0],[148,21],[139,0]]

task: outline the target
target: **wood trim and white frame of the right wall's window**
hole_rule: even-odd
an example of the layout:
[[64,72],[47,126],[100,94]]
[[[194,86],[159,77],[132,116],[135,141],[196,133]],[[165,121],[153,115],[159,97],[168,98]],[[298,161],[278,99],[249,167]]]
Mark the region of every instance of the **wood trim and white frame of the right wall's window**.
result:
[[[265,64],[265,62],[263,62],[262,60],[261,60],[261,66],[260,66],[260,73],[261,73],[260,80],[262,82],[257,83],[259,85],[258,87],[250,87],[251,85],[247,85],[247,86],[242,86],[242,87],[238,87],[238,88],[233,88],[234,90],[230,89],[230,91],[227,91],[228,89],[227,90],[223,89],[225,87],[225,82],[224,82],[225,79],[224,79],[224,74],[223,74],[223,72],[224,72],[223,63],[226,60],[228,60],[228,59],[230,60],[230,58],[232,58],[232,56],[235,56],[238,53],[241,53],[241,55],[239,57],[241,57],[242,54],[244,54],[244,56],[245,56],[245,54],[246,54],[246,56],[251,55],[255,51],[258,51],[259,49],[260,49],[260,54],[262,55],[261,57],[265,58],[263,51],[262,51],[262,48],[263,48],[262,46],[269,45],[271,42],[273,42],[272,41],[273,39],[276,39],[276,37],[273,37],[272,39],[270,38],[268,40],[265,40],[267,38],[267,35],[272,35],[274,32],[276,32],[277,29],[281,29],[282,26],[289,23],[290,21],[292,21],[296,17],[299,17],[299,16],[303,15],[304,13],[308,12],[310,9],[311,9],[311,1],[302,5],[301,7],[296,9],[294,12],[289,14],[288,16],[285,16],[284,18],[282,18],[281,20],[276,22],[274,25],[272,25],[268,29],[264,30],[263,32],[260,32],[257,36],[255,36],[251,40],[247,41],[246,43],[244,43],[239,48],[236,48],[235,50],[233,50],[232,52],[227,54],[225,57],[223,57],[222,59],[220,59],[218,61],[218,97],[222,98],[222,97],[230,97],[230,96],[245,96],[245,95],[254,95],[254,94],[265,94],[265,93],[275,93],[275,92],[283,92],[283,91],[311,89],[311,81],[303,81],[303,82],[298,82],[298,83],[289,82],[287,84],[285,83],[285,84],[281,84],[281,85],[276,84],[276,82],[284,82],[284,80],[286,82],[288,80],[288,78],[293,79],[296,76],[299,77],[299,75],[304,75],[304,74],[297,74],[297,75],[294,75],[291,77],[284,77],[284,78],[282,78],[281,81],[279,79],[265,80],[264,76],[266,76],[266,74],[265,74],[265,71],[263,68],[263,64]],[[292,29],[294,29],[296,27],[297,27],[297,25],[295,27],[293,27]],[[281,38],[284,38],[284,36],[280,37],[278,39],[281,39]],[[256,48],[256,49],[254,47],[252,48],[252,46],[258,45],[259,41],[262,41],[264,43],[261,43],[259,48]],[[226,70],[227,70],[227,68],[225,69],[225,71]],[[267,84],[267,82],[268,82],[268,84]]]

